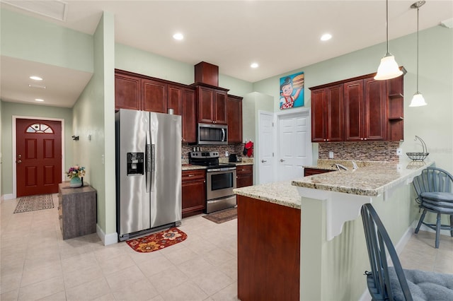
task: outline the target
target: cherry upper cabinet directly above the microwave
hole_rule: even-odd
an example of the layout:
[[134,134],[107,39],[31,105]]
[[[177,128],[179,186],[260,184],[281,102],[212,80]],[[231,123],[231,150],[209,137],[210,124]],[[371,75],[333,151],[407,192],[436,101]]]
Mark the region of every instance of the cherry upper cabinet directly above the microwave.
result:
[[228,89],[196,85],[198,122],[226,124],[226,99]]

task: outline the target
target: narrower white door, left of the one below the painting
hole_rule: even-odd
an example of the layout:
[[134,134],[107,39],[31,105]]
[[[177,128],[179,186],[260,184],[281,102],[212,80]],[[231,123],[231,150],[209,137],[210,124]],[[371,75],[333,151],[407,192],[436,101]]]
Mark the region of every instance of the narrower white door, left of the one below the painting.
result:
[[258,184],[274,182],[274,115],[260,112],[258,119],[259,155],[255,161],[258,165]]

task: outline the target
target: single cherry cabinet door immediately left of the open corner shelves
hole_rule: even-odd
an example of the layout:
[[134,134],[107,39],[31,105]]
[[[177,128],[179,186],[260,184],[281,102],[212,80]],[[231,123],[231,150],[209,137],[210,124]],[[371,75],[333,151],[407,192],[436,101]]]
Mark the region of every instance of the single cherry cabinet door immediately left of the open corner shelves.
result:
[[371,141],[386,138],[386,83],[374,78],[364,80],[363,139]]

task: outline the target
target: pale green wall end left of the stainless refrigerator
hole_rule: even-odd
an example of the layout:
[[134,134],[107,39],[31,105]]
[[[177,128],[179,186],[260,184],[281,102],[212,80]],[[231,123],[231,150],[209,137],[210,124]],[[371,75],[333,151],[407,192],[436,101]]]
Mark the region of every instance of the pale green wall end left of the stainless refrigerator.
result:
[[116,240],[114,37],[113,15],[103,13],[94,34],[93,77],[73,115],[74,132],[80,136],[74,145],[74,163],[86,167],[86,180],[97,191],[98,227]]

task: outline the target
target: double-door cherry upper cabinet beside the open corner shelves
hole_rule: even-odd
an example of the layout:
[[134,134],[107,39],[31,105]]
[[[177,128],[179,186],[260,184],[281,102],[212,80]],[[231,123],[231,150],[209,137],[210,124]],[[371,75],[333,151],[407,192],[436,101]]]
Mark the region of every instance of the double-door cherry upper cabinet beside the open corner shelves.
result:
[[374,78],[344,83],[345,141],[385,140],[385,88]]

